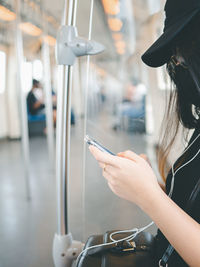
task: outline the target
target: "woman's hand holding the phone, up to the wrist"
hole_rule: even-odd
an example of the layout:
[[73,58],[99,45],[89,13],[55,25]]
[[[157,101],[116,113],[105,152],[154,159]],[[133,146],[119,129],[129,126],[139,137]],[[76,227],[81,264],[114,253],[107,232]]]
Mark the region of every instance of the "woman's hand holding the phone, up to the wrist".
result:
[[126,151],[112,156],[94,146],[90,146],[90,151],[103,169],[110,189],[119,197],[143,208],[160,190],[149,163],[134,152]]

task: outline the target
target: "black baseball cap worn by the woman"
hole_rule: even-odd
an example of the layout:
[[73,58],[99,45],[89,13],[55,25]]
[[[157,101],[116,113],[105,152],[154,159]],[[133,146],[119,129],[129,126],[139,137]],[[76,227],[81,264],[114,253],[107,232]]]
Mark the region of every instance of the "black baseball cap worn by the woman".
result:
[[172,42],[200,13],[200,0],[167,0],[165,27],[160,38],[142,55],[150,67],[160,67],[172,56]]

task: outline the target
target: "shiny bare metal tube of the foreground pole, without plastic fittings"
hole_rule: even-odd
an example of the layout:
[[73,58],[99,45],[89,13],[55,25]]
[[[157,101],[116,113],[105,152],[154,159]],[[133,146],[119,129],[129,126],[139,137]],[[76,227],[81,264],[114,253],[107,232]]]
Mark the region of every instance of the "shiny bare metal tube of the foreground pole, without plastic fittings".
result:
[[[65,1],[63,24],[75,26],[77,0]],[[72,66],[61,67],[62,86],[58,90],[57,136],[56,136],[56,175],[57,209],[59,235],[69,233],[68,227],[68,185],[70,177],[70,131],[71,131],[71,86]]]

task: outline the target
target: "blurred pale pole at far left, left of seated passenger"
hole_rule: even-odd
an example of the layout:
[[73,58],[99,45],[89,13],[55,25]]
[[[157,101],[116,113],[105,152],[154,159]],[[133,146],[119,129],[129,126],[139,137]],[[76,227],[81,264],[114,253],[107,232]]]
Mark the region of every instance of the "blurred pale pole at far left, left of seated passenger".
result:
[[24,160],[24,172],[26,179],[26,195],[30,200],[30,153],[29,153],[29,136],[28,136],[28,116],[26,107],[26,95],[23,90],[23,40],[22,33],[19,28],[21,15],[20,15],[20,0],[16,1],[16,53],[17,53],[17,88],[20,94],[20,116],[21,116],[21,138],[22,138],[22,151]]

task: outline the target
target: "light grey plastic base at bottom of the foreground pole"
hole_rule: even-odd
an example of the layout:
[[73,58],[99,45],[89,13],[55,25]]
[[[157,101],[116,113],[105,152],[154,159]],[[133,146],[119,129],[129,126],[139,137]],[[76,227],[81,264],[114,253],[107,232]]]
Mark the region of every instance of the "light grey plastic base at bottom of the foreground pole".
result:
[[53,260],[55,267],[72,267],[73,261],[83,250],[84,244],[75,241],[71,233],[67,235],[55,234],[53,241]]

